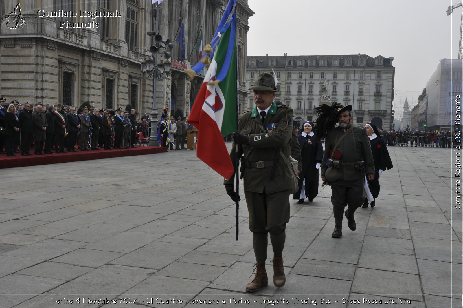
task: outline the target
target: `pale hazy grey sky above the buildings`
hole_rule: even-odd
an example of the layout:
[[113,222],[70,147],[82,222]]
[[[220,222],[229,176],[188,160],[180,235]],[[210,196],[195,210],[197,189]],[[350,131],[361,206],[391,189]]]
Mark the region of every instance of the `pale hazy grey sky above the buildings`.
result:
[[446,13],[458,2],[248,0],[255,14],[249,18],[247,55],[394,57],[396,106],[407,94],[416,96],[408,97],[413,106],[439,60],[458,58],[462,6]]

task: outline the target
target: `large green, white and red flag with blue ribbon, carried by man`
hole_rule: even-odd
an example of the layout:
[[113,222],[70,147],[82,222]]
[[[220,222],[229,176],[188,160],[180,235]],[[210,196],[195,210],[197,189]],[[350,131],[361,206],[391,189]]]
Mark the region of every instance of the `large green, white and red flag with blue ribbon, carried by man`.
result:
[[220,36],[219,45],[188,116],[188,122],[198,128],[196,156],[225,179],[232,177],[234,169],[223,137],[237,130],[234,9],[229,22],[228,28],[224,26],[226,31]]

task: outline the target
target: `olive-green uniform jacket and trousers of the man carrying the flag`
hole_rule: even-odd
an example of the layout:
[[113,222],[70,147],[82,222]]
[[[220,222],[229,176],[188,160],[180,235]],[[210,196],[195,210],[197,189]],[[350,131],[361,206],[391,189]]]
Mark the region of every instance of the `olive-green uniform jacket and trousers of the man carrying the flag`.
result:
[[[244,112],[238,119],[238,132],[250,135],[248,145],[238,145],[238,158],[244,154],[241,162],[244,166],[241,169],[244,168],[242,175],[249,211],[249,229],[262,234],[259,244],[265,245],[265,251],[256,251],[259,248],[255,247],[257,263],[265,263],[267,258],[267,232],[270,233],[271,240],[273,237],[284,237],[286,223],[289,221],[291,178],[279,149],[281,148],[286,157],[291,152],[292,118],[293,109],[287,106],[277,107],[272,103],[263,123],[256,107],[252,111]],[[269,133],[267,126],[272,123],[276,127]],[[263,130],[259,124],[263,126]],[[235,161],[234,143],[230,158]],[[273,168],[275,175],[272,180]],[[233,184],[233,179],[225,180],[224,184]]]

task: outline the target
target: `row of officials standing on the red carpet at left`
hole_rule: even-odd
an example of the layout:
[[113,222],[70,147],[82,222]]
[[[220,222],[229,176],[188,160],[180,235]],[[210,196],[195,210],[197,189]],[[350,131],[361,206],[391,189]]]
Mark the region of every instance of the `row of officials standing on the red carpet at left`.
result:
[[[149,116],[136,110],[91,108],[13,100],[0,97],[0,154],[6,156],[53,154],[104,149],[135,148],[137,133],[147,135]],[[77,147],[76,147],[77,146]]]

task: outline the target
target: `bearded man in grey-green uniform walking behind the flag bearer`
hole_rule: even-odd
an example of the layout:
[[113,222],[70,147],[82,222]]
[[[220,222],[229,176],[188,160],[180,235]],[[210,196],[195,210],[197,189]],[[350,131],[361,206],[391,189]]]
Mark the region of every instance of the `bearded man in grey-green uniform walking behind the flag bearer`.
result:
[[[335,220],[331,236],[334,238],[342,235],[343,214],[347,218],[349,229],[352,231],[357,229],[354,212],[363,204],[364,168],[366,168],[368,180],[375,178],[375,163],[367,131],[365,128],[352,125],[351,110],[351,105],[336,109],[339,126],[330,130],[326,135],[325,151],[321,163],[321,179],[331,184],[331,203]],[[325,178],[328,168],[332,169],[330,170],[332,172],[338,170],[336,171],[337,179],[332,180],[329,175],[327,179]],[[349,206],[344,212],[346,205]]]

